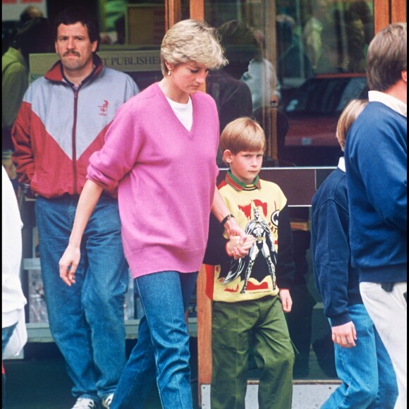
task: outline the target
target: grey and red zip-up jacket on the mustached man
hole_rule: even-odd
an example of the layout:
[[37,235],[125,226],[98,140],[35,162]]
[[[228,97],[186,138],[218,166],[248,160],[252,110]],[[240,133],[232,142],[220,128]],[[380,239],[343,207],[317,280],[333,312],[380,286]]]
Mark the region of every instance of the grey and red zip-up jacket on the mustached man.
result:
[[23,97],[12,130],[19,182],[51,198],[78,195],[88,160],[104,144],[119,106],[139,92],[126,73],[106,68],[94,55],[94,71],[75,88],[58,61]]

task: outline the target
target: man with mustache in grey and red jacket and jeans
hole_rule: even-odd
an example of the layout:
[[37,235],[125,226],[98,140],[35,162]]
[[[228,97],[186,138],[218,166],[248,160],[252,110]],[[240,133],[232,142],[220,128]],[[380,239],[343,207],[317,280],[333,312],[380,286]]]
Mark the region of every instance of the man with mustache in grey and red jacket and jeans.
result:
[[129,75],[95,54],[97,21],[82,8],[57,16],[59,61],[25,93],[12,137],[20,185],[35,196],[42,279],[51,334],[73,381],[75,409],[109,408],[126,363],[123,255],[116,191],[104,192],[81,243],[74,286],[59,276],[88,159],[104,145],[119,106],[138,93]]

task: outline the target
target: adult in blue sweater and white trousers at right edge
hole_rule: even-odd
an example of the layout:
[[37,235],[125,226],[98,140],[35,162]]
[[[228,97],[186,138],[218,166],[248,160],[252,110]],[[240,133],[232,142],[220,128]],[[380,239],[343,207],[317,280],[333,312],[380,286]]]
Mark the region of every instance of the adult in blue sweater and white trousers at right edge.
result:
[[396,372],[395,408],[407,407],[407,37],[407,24],[393,23],[372,40],[370,102],[345,149],[352,265]]

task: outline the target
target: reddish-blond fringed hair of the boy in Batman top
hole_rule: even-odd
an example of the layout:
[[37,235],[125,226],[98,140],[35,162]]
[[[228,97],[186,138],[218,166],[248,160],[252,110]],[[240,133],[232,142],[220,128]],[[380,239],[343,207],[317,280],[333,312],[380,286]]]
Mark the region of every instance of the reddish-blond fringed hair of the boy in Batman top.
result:
[[[266,149],[266,135],[257,121],[248,116],[243,116],[226,125],[220,135],[219,149],[223,157],[227,149],[232,154],[258,151],[264,153]],[[226,163],[226,161],[224,162]]]

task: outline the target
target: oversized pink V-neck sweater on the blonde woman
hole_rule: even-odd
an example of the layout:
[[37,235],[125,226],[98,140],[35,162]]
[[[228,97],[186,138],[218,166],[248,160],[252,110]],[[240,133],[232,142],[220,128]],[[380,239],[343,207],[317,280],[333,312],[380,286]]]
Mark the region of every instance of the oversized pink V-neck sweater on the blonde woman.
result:
[[193,126],[176,118],[157,83],[123,104],[92,154],[87,178],[118,187],[123,248],[132,276],[200,269],[216,176],[219,117],[192,95]]

